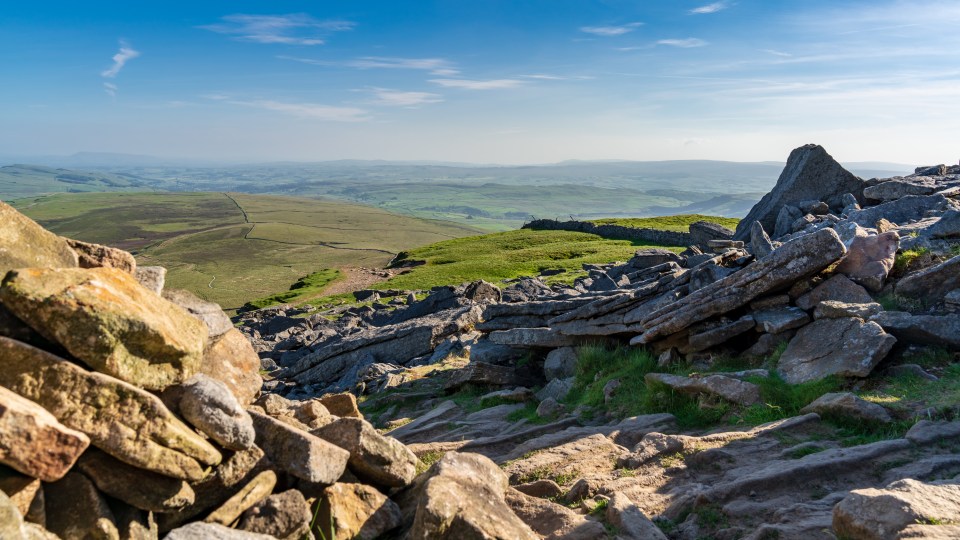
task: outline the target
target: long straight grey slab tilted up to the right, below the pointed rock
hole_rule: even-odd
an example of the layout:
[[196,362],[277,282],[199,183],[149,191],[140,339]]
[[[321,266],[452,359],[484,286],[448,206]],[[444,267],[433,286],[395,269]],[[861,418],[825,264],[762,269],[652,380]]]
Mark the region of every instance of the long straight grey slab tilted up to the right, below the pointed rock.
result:
[[645,344],[674,334],[693,323],[749,304],[772,291],[809,277],[842,257],[846,249],[833,229],[822,229],[780,246],[769,257],[720,281],[650,312],[640,307],[624,316],[643,333],[631,344]]

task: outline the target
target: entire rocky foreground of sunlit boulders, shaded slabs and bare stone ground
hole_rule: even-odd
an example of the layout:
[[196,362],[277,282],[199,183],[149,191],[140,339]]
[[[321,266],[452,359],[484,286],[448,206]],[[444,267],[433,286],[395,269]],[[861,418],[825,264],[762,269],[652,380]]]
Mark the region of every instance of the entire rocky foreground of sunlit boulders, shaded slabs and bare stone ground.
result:
[[[960,167],[863,180],[801,147],[736,231],[690,238],[572,287],[231,321],[0,203],[0,538],[960,537],[960,393],[858,395],[951,380],[910,359],[960,351]],[[604,402],[641,384],[716,422],[573,406],[617,346],[657,367]]]

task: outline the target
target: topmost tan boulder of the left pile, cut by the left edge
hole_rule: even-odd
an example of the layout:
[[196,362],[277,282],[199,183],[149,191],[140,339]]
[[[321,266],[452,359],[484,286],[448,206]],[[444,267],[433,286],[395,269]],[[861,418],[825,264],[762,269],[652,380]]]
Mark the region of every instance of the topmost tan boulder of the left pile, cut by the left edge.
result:
[[67,241],[0,201],[0,279],[14,268],[73,268]]

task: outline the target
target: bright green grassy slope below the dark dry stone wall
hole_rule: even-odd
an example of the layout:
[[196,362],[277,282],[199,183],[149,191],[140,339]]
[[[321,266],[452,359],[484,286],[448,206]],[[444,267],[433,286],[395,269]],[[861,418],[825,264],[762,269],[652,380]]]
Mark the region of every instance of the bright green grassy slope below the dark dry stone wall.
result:
[[[595,234],[521,229],[447,240],[404,252],[402,260],[425,261],[409,273],[391,278],[374,288],[429,289],[477,279],[497,283],[520,276],[535,276],[543,270],[563,269],[551,281],[570,283],[585,275],[584,263],[626,261],[645,244],[608,240]],[[682,247],[672,247],[682,251]]]

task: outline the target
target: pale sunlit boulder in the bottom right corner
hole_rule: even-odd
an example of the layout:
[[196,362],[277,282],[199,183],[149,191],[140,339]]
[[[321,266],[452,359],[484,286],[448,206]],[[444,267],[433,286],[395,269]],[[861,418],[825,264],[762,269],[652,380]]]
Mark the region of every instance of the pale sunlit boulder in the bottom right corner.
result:
[[884,489],[855,489],[833,508],[833,529],[846,538],[893,540],[916,523],[960,520],[960,485],[912,478]]

